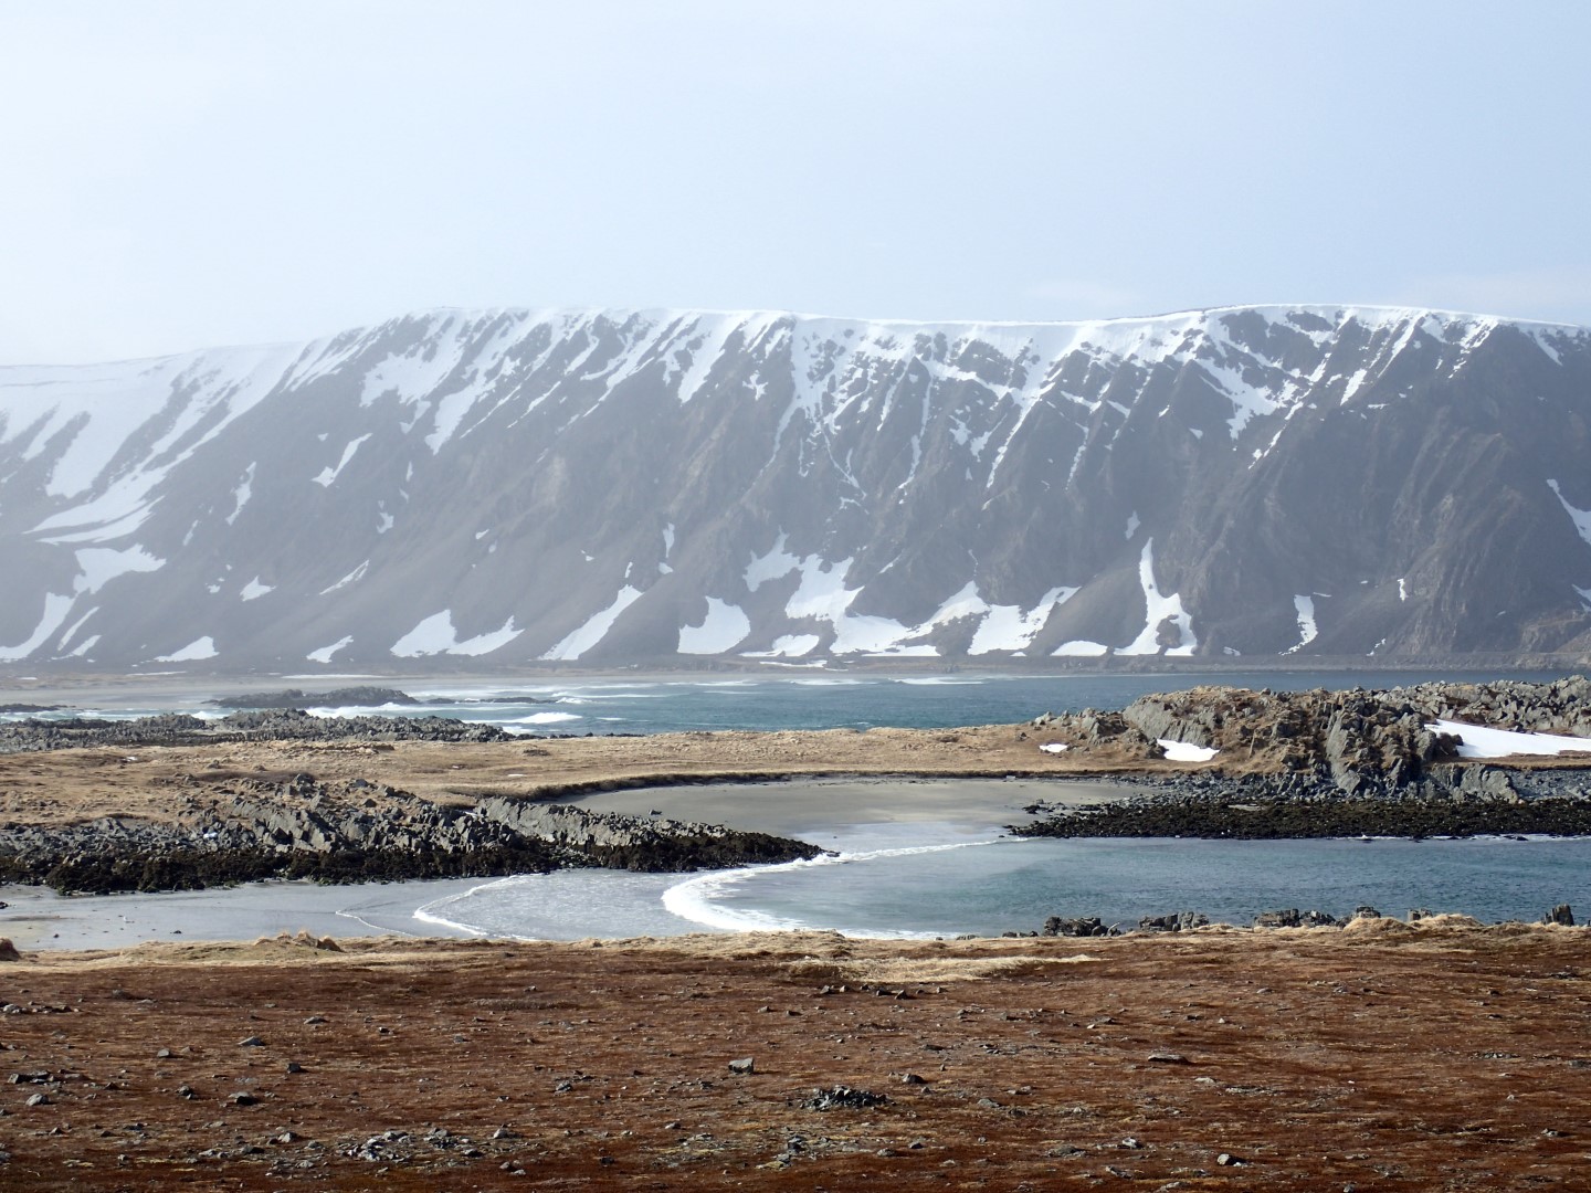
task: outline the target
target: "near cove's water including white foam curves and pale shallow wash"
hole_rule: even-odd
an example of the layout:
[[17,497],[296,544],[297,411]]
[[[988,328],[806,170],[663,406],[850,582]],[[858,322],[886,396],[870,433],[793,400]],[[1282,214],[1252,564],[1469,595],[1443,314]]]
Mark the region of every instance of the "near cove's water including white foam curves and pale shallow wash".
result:
[[[792,795],[796,797],[796,795]],[[563,872],[485,883],[422,908],[453,931],[527,938],[832,929],[862,937],[1034,932],[1045,918],[1375,907],[1540,919],[1591,911],[1591,840],[1021,840],[923,822],[867,826],[826,857],[698,875]]]

